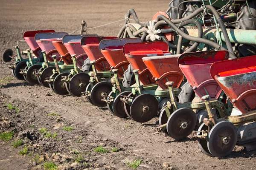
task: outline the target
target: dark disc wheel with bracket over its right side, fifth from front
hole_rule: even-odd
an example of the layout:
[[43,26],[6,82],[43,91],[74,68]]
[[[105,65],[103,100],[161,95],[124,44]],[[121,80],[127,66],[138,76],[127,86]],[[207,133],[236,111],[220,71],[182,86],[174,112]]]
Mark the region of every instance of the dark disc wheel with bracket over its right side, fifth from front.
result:
[[110,82],[98,82],[93,86],[90,92],[90,99],[93,102],[93,105],[100,108],[106,107],[107,103],[102,101],[102,93],[109,94],[112,91],[113,85]]

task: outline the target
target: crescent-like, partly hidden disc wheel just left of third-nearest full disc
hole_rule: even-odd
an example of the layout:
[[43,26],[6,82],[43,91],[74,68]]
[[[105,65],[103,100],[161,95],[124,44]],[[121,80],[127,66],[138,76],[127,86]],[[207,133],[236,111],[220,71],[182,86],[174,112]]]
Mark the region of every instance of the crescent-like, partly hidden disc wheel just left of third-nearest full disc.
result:
[[120,100],[122,96],[128,96],[131,91],[123,91],[119,95],[116,96],[113,102],[113,112],[119,118],[127,118],[127,114],[125,113],[125,104]]

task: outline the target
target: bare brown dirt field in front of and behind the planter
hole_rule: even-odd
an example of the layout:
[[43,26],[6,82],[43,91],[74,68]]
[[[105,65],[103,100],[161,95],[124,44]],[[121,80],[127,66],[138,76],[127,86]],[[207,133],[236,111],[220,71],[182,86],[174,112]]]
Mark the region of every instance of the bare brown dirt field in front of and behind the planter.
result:
[[[129,8],[134,8],[140,20],[146,21],[157,11],[165,11],[168,3],[168,0],[0,0],[0,54],[7,48],[14,49],[16,41],[23,39],[24,31],[54,29],[70,33],[79,28],[82,20],[88,28],[121,20]],[[120,24],[91,29],[88,34],[116,36]],[[20,48],[28,46],[20,42]],[[9,142],[0,140],[0,170],[44,169],[48,161],[63,170],[131,170],[128,162],[135,159],[142,160],[138,170],[256,167],[256,151],[236,147],[224,159],[206,156],[191,138],[177,141],[163,134],[153,136],[157,118],[144,124],[119,119],[84,98],[58,96],[50,89],[13,79],[9,64],[0,59],[0,132],[15,133]],[[17,109],[10,110],[7,105]],[[50,113],[56,114],[50,116]],[[73,130],[63,130],[65,126]],[[39,132],[43,127],[48,133]],[[58,135],[47,138],[49,132]],[[15,139],[22,139],[23,144],[12,147]],[[98,146],[109,152],[97,153],[94,149]],[[24,147],[28,153],[22,156],[19,151]],[[113,147],[118,152],[111,151]]]

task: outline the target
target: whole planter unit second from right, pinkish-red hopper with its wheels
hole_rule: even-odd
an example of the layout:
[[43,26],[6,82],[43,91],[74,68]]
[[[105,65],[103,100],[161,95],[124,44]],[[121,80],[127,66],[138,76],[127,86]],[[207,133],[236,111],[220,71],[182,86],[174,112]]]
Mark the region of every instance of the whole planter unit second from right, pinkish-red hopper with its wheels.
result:
[[[167,102],[166,108],[160,113],[159,132],[164,132],[174,139],[183,139],[201,125],[207,117],[206,105],[201,99],[204,95],[211,96],[210,104],[214,108],[212,112],[218,113],[219,117],[230,115],[232,104],[226,102],[221,88],[209,74],[213,62],[227,60],[227,51],[204,51],[181,54],[177,63],[184,76],[195,91],[192,102],[180,104],[174,97],[173,82],[166,82],[169,87],[171,101]],[[196,113],[195,113],[196,112]]]

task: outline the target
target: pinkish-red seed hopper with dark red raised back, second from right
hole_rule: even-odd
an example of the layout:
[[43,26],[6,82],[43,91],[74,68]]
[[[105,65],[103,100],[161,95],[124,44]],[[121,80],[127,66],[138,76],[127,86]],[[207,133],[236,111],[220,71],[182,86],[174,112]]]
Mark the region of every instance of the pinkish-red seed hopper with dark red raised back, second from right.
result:
[[228,51],[184,53],[179,57],[177,63],[200,98],[209,95],[211,99],[218,99],[222,89],[215,79],[212,79],[210,67],[212,63],[227,60],[228,57]]

